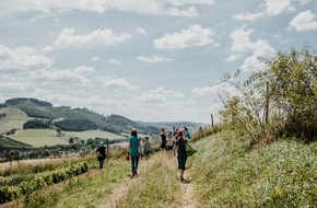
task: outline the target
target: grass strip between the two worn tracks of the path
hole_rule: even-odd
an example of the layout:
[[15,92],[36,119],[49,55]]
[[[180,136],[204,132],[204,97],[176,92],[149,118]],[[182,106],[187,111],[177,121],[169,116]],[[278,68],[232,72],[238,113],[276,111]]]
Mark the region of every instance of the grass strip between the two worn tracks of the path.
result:
[[116,207],[179,207],[181,193],[176,164],[172,152],[158,152],[142,166],[140,181],[130,187]]

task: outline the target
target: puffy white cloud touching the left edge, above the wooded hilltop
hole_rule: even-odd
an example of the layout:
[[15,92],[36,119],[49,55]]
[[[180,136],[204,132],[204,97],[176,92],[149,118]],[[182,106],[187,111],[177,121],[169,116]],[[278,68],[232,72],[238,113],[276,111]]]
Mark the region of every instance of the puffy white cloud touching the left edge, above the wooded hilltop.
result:
[[9,48],[0,45],[0,71],[49,68],[54,60],[32,47]]

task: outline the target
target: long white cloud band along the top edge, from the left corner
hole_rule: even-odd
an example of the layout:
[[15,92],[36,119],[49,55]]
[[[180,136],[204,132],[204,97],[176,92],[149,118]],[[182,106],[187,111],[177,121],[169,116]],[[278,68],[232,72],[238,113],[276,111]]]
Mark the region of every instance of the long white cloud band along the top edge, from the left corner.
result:
[[42,13],[46,15],[59,15],[69,11],[78,10],[83,12],[104,13],[107,11],[137,12],[141,14],[162,15],[171,11],[172,7],[185,4],[214,4],[215,0],[24,0],[0,2],[0,16],[11,18],[26,12]]

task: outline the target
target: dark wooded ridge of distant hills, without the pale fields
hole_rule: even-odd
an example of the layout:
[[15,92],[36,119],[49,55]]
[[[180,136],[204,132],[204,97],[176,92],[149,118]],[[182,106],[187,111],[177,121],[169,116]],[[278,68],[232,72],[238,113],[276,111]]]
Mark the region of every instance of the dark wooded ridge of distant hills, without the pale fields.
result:
[[[165,126],[167,129],[173,127],[187,126],[189,129],[197,129],[201,124],[196,123],[143,123],[133,122],[120,115],[103,116],[94,113],[87,108],[71,108],[70,106],[54,106],[46,101],[37,99],[15,97],[7,100],[5,103],[0,104],[0,109],[16,108],[26,114],[34,122],[45,120],[47,124],[40,127],[49,127],[61,129],[64,131],[83,131],[83,130],[104,130],[116,135],[130,134],[131,129],[137,129],[139,134],[157,135],[160,127]],[[5,112],[5,111],[1,111]],[[0,113],[1,113],[0,112]],[[0,120],[5,118],[5,113],[0,114]],[[27,122],[27,127],[32,126]],[[38,125],[38,124],[37,124]],[[36,125],[35,125],[36,126]]]

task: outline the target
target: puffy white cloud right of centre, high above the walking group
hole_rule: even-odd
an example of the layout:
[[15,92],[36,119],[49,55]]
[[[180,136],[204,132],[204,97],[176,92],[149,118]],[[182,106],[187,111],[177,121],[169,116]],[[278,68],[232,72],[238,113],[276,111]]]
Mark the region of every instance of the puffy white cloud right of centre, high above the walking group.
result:
[[213,43],[213,35],[214,33],[210,28],[191,25],[188,30],[181,30],[179,33],[165,34],[164,37],[155,39],[154,47],[168,50],[207,46]]

